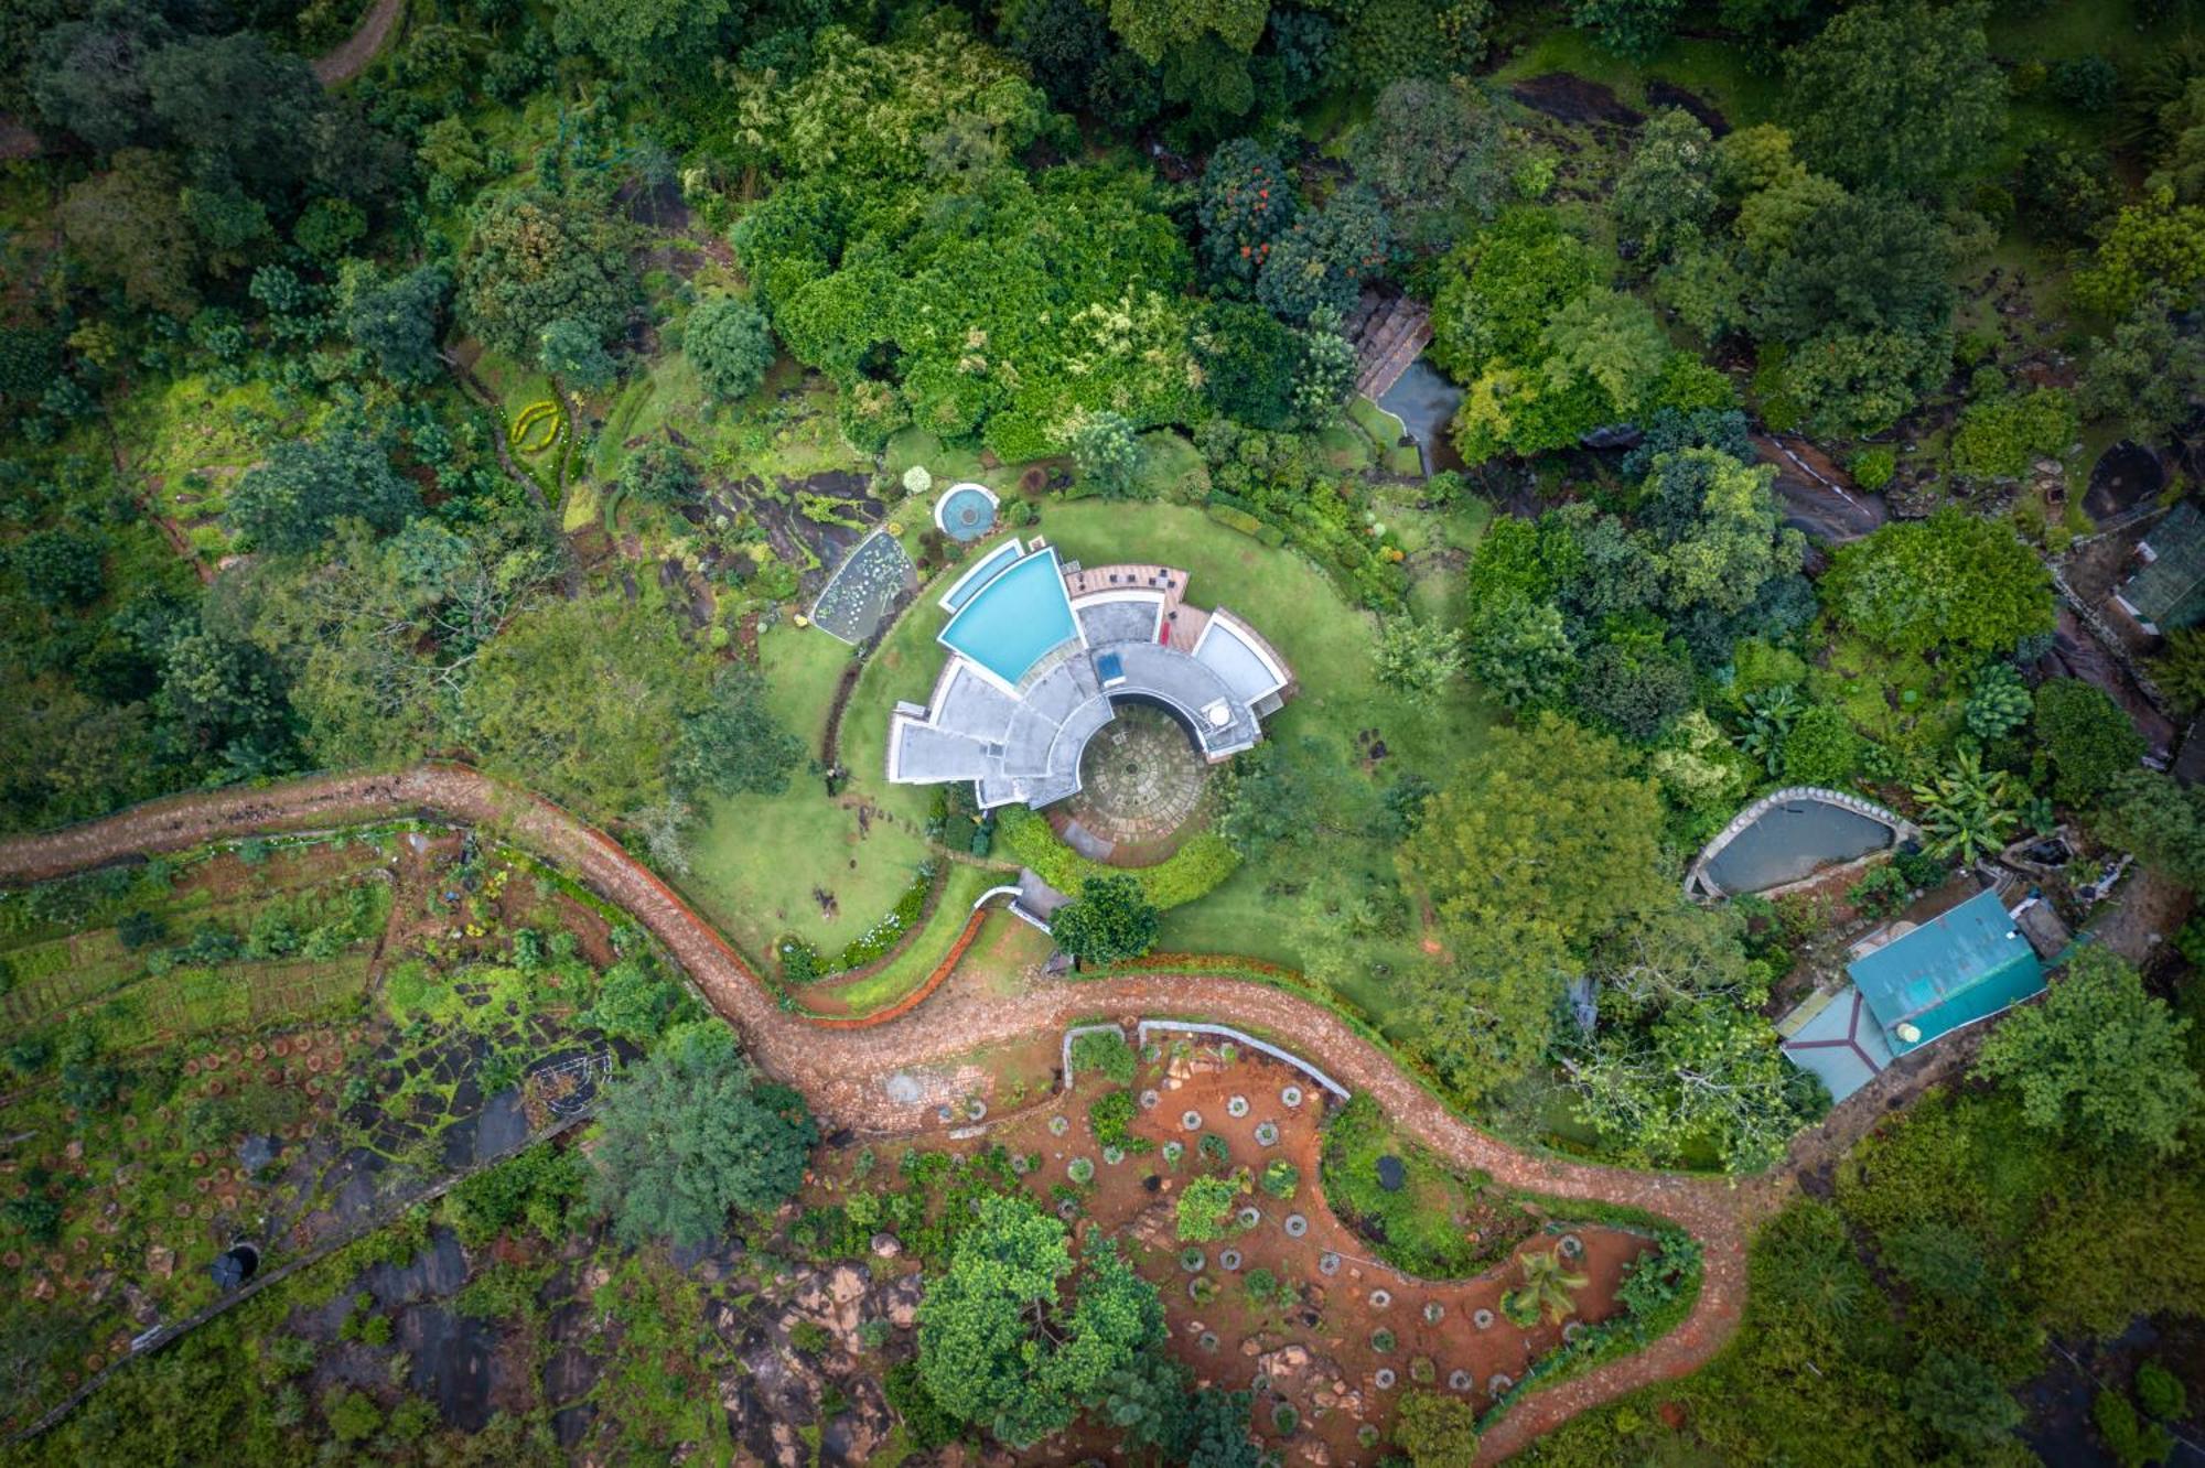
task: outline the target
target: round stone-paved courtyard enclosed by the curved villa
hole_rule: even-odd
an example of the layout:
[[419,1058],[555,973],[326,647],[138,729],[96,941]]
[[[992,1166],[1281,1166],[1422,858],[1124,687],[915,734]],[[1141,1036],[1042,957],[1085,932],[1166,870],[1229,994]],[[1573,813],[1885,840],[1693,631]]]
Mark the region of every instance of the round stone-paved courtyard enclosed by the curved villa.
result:
[[1171,714],[1122,703],[1080,752],[1080,791],[1050,818],[1058,835],[1100,862],[1149,866],[1195,827],[1208,780],[1208,763]]

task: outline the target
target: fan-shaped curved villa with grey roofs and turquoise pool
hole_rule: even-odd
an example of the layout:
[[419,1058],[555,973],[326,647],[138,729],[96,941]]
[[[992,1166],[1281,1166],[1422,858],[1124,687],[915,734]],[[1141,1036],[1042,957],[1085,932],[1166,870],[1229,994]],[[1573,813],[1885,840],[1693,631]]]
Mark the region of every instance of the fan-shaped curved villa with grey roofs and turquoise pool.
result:
[[1080,789],[1080,752],[1120,703],[1160,708],[1208,763],[1261,738],[1292,670],[1226,608],[1186,604],[1186,571],[1058,562],[1043,540],[986,549],[942,593],[948,661],[926,705],[889,721],[889,780],[972,780],[981,809]]

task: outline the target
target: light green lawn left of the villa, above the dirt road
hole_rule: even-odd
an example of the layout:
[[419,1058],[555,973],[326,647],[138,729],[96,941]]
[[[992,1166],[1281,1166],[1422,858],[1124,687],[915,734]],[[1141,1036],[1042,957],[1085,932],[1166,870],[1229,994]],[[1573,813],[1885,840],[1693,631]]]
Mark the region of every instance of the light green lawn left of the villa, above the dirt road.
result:
[[[754,961],[765,963],[774,939],[794,932],[825,954],[833,954],[911,886],[913,868],[926,857],[917,813],[900,813],[911,824],[880,820],[860,824],[853,791],[829,798],[809,767],[818,758],[827,708],[836,679],[849,663],[849,648],[814,628],[778,626],[759,639],[759,657],[772,690],[772,710],[805,741],[800,767],[781,796],[730,796],[714,800],[690,846],[684,890]],[[862,752],[845,741],[853,765],[880,767],[878,747]],[[814,893],[836,904],[827,917]]]

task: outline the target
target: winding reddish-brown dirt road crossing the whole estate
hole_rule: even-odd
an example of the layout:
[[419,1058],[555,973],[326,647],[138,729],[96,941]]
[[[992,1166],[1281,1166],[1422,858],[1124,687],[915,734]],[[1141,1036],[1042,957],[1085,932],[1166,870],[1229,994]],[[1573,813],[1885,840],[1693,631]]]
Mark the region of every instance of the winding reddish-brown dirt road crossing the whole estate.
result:
[[911,1131],[911,1111],[886,1100],[900,1069],[1023,1040],[1085,1018],[1208,1018],[1239,1025],[1308,1056],[1369,1091],[1405,1129],[1455,1166],[1510,1188],[1629,1203],[1691,1230],[1707,1256],[1700,1305],[1645,1351],[1539,1391],[1486,1437],[1506,1457],[1574,1413],[1704,1364],[1729,1340],[1746,1294],[1746,1237],[1790,1190],[1790,1173],[1760,1179],[1687,1177],[1521,1153],[1469,1126],[1385,1051],[1330,1010],[1244,979],[1118,976],[990,992],[961,970],[917,1010],[864,1029],[825,1029],[785,1014],[741,954],[673,888],[569,811],[454,765],[392,774],[313,776],[269,789],[192,794],[106,820],[0,844],[0,884],[55,877],[130,855],[185,851],[247,833],[333,829],[392,813],[485,827],[620,904],[688,968],[741,1032],[759,1065],[800,1087],[827,1129]]

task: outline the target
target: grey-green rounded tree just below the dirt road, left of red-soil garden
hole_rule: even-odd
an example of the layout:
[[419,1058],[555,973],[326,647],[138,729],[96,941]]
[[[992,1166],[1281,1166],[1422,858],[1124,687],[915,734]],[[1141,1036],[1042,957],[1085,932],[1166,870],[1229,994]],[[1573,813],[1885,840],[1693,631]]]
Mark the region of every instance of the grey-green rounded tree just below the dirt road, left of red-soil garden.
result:
[[725,1023],[699,1021],[606,1087],[591,1201],[631,1248],[692,1248],[794,1197],[814,1142],[805,1098],[761,1080]]

